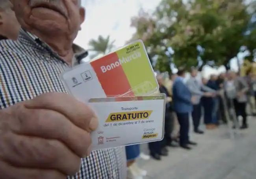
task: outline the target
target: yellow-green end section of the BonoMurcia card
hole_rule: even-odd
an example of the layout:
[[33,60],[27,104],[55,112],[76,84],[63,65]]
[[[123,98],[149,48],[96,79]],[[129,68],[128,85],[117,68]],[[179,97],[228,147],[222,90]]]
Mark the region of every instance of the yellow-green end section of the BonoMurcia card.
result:
[[116,51],[135,96],[153,93],[158,83],[142,41]]

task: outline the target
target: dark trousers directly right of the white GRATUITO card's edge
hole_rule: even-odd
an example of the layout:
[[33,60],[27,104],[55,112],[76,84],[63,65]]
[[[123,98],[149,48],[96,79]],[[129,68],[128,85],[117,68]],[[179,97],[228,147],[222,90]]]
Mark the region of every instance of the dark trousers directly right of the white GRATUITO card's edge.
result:
[[173,132],[173,116],[172,113],[169,111],[165,111],[165,131],[162,145],[163,147],[167,146],[167,144],[172,142],[171,134]]

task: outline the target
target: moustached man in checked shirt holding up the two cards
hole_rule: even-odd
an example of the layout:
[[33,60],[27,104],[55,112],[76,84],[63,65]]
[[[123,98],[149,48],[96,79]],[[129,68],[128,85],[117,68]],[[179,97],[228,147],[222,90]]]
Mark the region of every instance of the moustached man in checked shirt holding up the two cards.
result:
[[73,44],[85,17],[81,2],[12,3],[22,28],[17,41],[0,42],[1,178],[126,178],[124,148],[91,152],[98,119],[59,78],[87,54]]

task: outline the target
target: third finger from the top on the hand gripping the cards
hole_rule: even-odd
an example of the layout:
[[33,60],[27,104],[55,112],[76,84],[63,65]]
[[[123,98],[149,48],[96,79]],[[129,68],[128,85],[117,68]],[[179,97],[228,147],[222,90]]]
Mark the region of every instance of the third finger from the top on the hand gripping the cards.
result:
[[[13,166],[56,170],[74,175],[80,170],[81,158],[61,142],[8,133],[0,158]],[[7,142],[9,140],[9,142]]]

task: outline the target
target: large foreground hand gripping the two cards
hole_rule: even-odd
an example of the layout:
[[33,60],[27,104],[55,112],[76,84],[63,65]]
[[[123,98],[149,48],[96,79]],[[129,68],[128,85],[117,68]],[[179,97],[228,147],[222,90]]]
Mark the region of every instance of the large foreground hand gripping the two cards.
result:
[[66,179],[91,153],[98,119],[64,93],[46,93],[0,110],[0,173],[4,179]]

